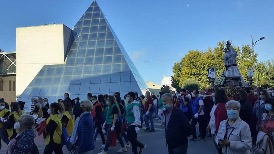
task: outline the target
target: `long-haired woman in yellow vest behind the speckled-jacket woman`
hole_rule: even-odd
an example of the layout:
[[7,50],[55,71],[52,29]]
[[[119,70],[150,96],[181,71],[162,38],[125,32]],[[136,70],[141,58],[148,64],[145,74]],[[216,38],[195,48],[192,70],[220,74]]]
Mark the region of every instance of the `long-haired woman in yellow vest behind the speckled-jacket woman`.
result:
[[14,124],[18,121],[20,116],[22,115],[21,108],[17,102],[11,103],[11,113],[6,122],[4,122],[4,127],[7,129],[7,134],[11,139],[15,138],[18,130],[14,129]]

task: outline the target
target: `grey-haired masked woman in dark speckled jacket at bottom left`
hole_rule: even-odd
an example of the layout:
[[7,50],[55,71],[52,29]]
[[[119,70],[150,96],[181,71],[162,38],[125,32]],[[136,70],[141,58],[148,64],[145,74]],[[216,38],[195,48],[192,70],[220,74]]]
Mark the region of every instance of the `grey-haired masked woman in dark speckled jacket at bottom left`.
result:
[[[7,151],[10,151],[12,154],[36,154],[38,153],[38,149],[34,143],[35,133],[32,130],[32,126],[34,125],[35,119],[30,114],[24,114],[20,117],[17,123],[14,124],[14,128],[19,131],[16,138],[14,138],[11,142],[11,149],[8,147]],[[10,144],[11,146],[11,144]]]

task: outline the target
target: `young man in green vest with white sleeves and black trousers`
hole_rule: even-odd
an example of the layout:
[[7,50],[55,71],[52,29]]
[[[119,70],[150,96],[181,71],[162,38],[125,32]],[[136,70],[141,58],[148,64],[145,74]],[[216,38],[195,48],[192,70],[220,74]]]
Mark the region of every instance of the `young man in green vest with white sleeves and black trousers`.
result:
[[142,115],[140,103],[135,100],[134,92],[129,92],[126,100],[129,103],[126,108],[127,139],[131,142],[132,153],[138,154],[137,147],[140,148],[139,153],[142,153],[146,146],[137,140],[137,134],[140,131],[138,126],[141,125],[140,116]]

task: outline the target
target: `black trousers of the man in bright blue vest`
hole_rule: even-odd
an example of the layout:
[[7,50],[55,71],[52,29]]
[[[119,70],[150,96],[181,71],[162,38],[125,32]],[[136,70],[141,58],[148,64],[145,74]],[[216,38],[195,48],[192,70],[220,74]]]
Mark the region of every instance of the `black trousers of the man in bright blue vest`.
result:
[[192,121],[191,121],[192,136],[193,136],[193,138],[197,138],[196,127],[195,127],[197,122],[199,122],[199,132],[201,133],[201,137],[205,138],[205,133],[206,133],[205,115],[199,115],[197,119],[192,118]]

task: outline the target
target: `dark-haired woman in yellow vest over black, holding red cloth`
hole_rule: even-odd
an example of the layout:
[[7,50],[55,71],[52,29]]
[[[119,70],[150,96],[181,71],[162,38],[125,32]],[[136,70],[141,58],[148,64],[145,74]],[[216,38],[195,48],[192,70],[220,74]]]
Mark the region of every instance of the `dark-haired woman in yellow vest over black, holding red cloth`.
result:
[[44,154],[63,154],[61,145],[61,135],[62,135],[62,122],[59,117],[58,111],[61,108],[60,103],[51,103],[48,113],[51,116],[46,120],[46,147]]

